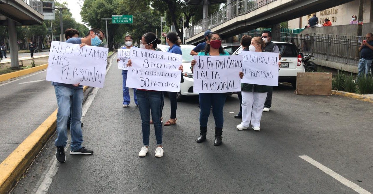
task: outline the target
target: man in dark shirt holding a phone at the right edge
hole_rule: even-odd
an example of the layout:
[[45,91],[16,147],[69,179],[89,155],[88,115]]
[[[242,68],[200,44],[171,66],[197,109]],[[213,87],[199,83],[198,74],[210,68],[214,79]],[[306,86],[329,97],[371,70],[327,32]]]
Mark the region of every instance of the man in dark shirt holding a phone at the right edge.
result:
[[365,35],[366,41],[363,41],[359,47],[360,60],[358,65],[357,77],[359,78],[363,74],[368,76],[370,64],[373,60],[373,38],[372,33]]

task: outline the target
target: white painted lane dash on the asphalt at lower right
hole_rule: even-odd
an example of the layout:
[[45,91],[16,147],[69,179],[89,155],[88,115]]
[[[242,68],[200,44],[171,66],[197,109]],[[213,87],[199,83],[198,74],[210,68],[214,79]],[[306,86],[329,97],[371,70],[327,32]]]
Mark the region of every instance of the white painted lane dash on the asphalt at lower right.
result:
[[347,187],[350,187],[351,189],[353,189],[354,191],[356,191],[357,193],[361,193],[361,194],[372,194],[370,193],[369,191],[359,187],[359,185],[349,181],[348,179],[344,178],[343,176],[337,174],[336,172],[334,172],[333,170],[331,170],[330,168],[327,168],[326,166],[320,164],[319,162],[317,162],[316,160],[310,158],[309,156],[299,156],[301,159],[311,163],[311,165],[314,165],[316,166],[318,169],[322,170],[323,172],[327,173],[328,175],[332,176],[333,178],[335,178],[337,181],[341,182],[342,184],[346,185]]

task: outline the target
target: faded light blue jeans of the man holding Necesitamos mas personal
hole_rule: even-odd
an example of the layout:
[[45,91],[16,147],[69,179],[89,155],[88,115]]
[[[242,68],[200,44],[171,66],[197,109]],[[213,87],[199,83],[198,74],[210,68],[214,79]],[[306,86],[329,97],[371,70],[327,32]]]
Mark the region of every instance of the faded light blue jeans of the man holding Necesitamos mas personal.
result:
[[[54,91],[57,97],[57,139],[54,145],[66,147],[68,140],[67,124],[71,112],[71,151],[82,148],[83,135],[80,119],[82,118],[83,89],[71,89],[61,85],[55,85]],[[71,110],[70,110],[71,109]]]

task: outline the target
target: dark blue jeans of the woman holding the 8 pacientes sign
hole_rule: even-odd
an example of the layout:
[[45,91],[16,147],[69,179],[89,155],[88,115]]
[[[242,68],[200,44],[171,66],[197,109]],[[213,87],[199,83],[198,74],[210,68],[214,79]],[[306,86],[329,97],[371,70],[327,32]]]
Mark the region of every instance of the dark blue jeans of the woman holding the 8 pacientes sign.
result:
[[144,146],[149,146],[150,111],[154,123],[157,145],[162,145],[163,129],[160,118],[162,115],[163,92],[136,90],[136,95],[142,122],[142,142]]

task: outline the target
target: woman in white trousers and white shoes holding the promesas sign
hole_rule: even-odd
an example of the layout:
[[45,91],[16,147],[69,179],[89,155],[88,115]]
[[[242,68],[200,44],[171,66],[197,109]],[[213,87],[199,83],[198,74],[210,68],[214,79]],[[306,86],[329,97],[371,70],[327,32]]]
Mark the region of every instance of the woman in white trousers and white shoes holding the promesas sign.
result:
[[[243,50],[255,52],[263,51],[265,42],[261,37],[251,39],[251,45]],[[238,130],[248,129],[251,121],[251,126],[254,131],[260,131],[260,119],[263,113],[264,102],[266,101],[267,92],[271,86],[245,84],[241,83],[242,94],[242,122],[237,125]]]

